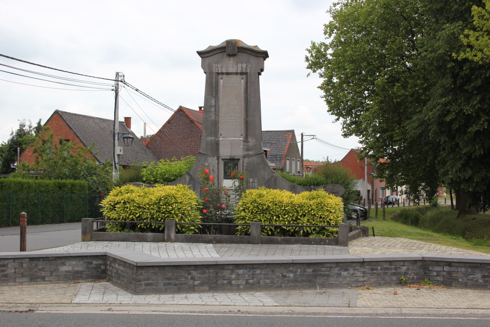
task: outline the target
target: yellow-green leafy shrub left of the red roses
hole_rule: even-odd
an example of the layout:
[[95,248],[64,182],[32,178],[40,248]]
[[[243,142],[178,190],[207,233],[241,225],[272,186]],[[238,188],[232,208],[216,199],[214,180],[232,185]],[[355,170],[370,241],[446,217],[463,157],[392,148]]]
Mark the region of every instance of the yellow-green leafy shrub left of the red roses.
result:
[[[102,213],[107,220],[200,223],[200,202],[196,193],[186,185],[137,187],[124,185],[114,188],[102,200]],[[161,232],[163,224],[108,223],[107,231]],[[197,231],[197,225],[177,225],[184,234]]]

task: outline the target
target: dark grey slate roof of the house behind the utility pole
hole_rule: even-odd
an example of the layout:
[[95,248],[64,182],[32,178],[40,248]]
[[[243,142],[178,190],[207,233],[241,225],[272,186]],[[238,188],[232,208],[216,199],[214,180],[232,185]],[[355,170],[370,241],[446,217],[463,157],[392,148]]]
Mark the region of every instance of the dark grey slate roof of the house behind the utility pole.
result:
[[[114,130],[114,121],[110,119],[74,114],[72,112],[56,110],[67,126],[73,133],[78,136],[82,143],[88,147],[95,143],[92,154],[99,163],[113,160],[114,139],[112,131]],[[123,154],[120,157],[120,165],[131,166],[141,164],[142,162],[156,162],[155,156],[145,147],[140,138],[129,130],[124,122],[119,122],[119,131],[130,133],[134,136],[133,144],[130,147],[123,145],[120,140],[120,146],[123,147]]]

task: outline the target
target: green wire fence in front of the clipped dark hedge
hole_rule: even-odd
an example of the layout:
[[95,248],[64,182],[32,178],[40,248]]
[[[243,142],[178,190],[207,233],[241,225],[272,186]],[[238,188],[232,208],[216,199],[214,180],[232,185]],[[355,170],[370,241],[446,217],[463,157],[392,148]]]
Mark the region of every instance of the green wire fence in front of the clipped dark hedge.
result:
[[78,223],[82,218],[101,216],[102,197],[92,194],[0,194],[0,227],[20,225],[20,214],[27,214],[27,225]]

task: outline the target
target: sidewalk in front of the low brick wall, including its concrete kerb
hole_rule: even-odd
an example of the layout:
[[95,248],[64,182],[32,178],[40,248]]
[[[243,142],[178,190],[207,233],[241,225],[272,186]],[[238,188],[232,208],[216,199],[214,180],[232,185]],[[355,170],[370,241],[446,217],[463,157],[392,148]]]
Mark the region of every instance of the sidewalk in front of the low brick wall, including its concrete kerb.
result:
[[[397,295],[394,292],[397,292]],[[135,295],[108,282],[67,284],[31,284],[23,286],[0,286],[0,311],[60,310],[79,311],[80,308],[96,305],[96,311],[184,310],[223,311],[261,310],[274,312],[277,309],[294,312],[406,312],[417,313],[454,310],[466,314],[490,314],[490,290],[429,289],[381,287],[362,289],[316,289],[280,290],[233,293],[187,293]],[[48,309],[50,308],[50,309]],[[54,309],[53,309],[54,308]],[[57,308],[57,309],[56,309]],[[434,311],[436,310],[436,311]]]

